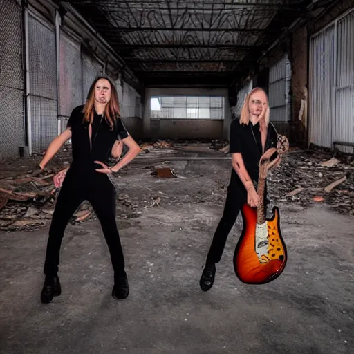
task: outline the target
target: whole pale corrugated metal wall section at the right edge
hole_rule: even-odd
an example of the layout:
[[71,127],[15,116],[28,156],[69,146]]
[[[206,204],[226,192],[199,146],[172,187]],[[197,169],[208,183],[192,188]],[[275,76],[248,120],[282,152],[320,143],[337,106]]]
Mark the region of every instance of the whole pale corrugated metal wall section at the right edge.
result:
[[330,148],[354,143],[353,11],[311,38],[309,88],[310,142]]

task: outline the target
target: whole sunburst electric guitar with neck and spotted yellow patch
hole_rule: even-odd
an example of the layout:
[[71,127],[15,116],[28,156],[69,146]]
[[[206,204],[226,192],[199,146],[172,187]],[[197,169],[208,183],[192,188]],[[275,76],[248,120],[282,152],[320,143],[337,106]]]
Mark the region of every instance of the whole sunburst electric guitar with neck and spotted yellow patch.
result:
[[277,153],[282,155],[288,148],[286,136],[278,136],[277,148],[263,153],[257,186],[259,206],[252,208],[245,203],[242,207],[243,230],[234,252],[234,271],[243,283],[269,283],[279,277],[286,266],[286,244],[280,232],[279,209],[274,206],[272,217],[266,218],[263,201],[268,171],[277,163],[272,158]]

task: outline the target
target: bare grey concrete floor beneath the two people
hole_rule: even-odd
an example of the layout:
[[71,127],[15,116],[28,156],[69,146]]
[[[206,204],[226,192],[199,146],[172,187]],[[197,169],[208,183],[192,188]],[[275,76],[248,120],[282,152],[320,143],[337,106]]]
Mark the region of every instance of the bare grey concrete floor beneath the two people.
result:
[[[146,162],[115,178],[131,292],[111,297],[111,263],[97,221],[68,225],[62,295],[41,304],[48,227],[0,233],[0,353],[354,353],[354,219],[326,205],[279,205],[288,264],[263,286],[241,283],[230,233],[214,287],[198,281],[221,217],[228,161],[173,162],[180,178],[158,179]],[[147,207],[160,196],[160,207]],[[125,214],[124,214],[125,213]],[[127,215],[122,218],[121,215]]]

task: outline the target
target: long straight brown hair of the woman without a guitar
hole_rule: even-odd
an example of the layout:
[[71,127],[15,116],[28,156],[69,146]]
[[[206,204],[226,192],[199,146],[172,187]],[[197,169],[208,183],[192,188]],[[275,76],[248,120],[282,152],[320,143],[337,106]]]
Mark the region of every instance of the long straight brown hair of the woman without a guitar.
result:
[[90,89],[88,90],[86,103],[84,105],[84,109],[82,112],[84,113],[84,122],[88,122],[92,124],[93,115],[95,111],[95,86],[98,80],[107,80],[111,85],[111,100],[106,104],[106,108],[104,109],[104,118],[106,122],[111,126],[111,129],[114,127],[114,120],[120,118],[120,106],[117,90],[109,77],[106,76],[98,76],[95,78],[95,81],[91,84]]

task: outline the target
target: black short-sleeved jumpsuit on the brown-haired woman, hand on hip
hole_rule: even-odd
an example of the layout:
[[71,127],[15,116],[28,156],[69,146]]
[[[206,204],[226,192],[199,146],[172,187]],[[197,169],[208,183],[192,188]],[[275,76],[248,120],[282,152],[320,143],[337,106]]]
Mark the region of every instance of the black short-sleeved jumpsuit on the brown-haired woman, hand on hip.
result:
[[94,161],[106,162],[118,136],[127,138],[128,132],[118,118],[113,129],[102,115],[95,113],[92,125],[92,149],[88,136],[88,123],[83,123],[83,106],[71,113],[68,127],[71,129],[73,162],[66,173],[57,198],[49,229],[44,274],[53,277],[58,272],[60,246],[69,219],[83,201],[91,203],[99,219],[111,254],[115,277],[124,277],[124,256],[117,225],[115,223],[115,187],[107,174]]

